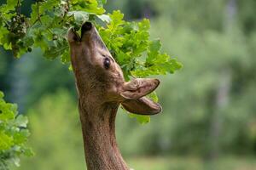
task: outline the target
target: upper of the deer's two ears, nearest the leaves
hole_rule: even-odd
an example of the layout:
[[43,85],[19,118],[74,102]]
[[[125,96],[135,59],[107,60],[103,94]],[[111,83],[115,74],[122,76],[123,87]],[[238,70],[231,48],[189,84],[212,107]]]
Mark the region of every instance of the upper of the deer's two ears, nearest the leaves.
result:
[[125,82],[120,95],[125,99],[139,99],[150,94],[158,87],[160,81],[154,78],[136,78],[131,82]]

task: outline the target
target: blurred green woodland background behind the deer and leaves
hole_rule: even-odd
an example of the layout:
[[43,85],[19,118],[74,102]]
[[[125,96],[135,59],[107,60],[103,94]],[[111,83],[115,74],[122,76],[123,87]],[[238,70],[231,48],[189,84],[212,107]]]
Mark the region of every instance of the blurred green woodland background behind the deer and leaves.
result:
[[[4,1],[1,0],[1,3]],[[22,8],[29,14],[32,0]],[[183,63],[159,77],[163,112],[140,125],[119,111],[119,148],[135,170],[256,169],[256,1],[108,0]],[[30,119],[36,156],[20,170],[84,169],[73,73],[39,50],[0,51],[0,90]],[[15,168],[14,168],[15,169]]]

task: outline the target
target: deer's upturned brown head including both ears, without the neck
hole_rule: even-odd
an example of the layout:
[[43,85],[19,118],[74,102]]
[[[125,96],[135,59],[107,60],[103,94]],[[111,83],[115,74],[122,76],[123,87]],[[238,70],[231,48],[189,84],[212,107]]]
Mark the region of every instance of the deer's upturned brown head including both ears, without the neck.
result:
[[125,110],[140,115],[161,111],[159,104],[144,97],[153,92],[160,81],[135,78],[125,82],[120,66],[90,22],[82,26],[81,37],[71,28],[67,39],[80,99],[90,99],[97,104],[116,102]]

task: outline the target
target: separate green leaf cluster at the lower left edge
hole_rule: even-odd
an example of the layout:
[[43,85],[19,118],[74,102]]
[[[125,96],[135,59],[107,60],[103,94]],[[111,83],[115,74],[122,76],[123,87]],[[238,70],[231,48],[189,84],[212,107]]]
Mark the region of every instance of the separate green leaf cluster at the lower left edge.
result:
[[33,156],[26,146],[30,135],[26,116],[18,115],[17,105],[7,103],[0,91],[0,169],[8,169],[9,164],[20,165],[20,156]]

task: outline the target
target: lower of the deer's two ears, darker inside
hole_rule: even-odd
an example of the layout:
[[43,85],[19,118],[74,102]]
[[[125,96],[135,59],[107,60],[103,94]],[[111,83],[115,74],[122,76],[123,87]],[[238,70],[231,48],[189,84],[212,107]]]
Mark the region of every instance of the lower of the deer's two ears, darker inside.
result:
[[140,99],[125,99],[121,104],[126,111],[137,115],[154,115],[162,111],[160,104],[146,97]]

